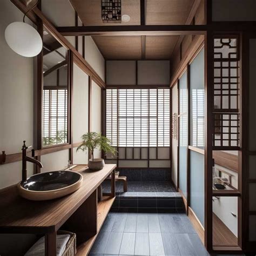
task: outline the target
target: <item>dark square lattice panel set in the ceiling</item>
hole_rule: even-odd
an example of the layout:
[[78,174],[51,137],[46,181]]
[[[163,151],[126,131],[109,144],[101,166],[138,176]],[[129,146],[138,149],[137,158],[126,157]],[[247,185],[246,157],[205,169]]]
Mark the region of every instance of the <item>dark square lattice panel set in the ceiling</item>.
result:
[[102,0],[102,21],[121,23],[121,0]]

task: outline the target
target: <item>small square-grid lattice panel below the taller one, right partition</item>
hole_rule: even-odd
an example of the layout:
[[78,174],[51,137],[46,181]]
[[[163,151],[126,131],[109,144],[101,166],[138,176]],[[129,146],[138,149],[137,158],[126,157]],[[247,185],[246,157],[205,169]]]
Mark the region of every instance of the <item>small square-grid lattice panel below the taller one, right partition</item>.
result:
[[214,113],[214,147],[239,146],[239,113]]

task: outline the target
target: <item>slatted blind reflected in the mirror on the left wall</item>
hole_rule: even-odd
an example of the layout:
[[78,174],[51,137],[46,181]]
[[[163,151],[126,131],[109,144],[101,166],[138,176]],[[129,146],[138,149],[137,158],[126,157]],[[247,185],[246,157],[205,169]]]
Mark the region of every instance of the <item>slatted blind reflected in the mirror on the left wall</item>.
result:
[[43,90],[43,144],[68,142],[68,90]]

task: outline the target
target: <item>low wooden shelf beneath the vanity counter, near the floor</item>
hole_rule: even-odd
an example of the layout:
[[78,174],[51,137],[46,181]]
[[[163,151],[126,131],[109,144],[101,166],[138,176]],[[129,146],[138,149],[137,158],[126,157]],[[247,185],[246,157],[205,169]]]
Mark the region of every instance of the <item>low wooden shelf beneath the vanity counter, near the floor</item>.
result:
[[95,242],[97,235],[99,234],[100,228],[102,227],[104,220],[107,217],[107,214],[109,213],[109,210],[114,202],[115,197],[110,196],[104,196],[103,200],[98,203],[98,213],[97,213],[97,234],[93,235],[89,240],[84,242],[83,244],[80,244],[77,247],[77,254],[76,255],[87,255],[91,247],[93,245],[93,242]]

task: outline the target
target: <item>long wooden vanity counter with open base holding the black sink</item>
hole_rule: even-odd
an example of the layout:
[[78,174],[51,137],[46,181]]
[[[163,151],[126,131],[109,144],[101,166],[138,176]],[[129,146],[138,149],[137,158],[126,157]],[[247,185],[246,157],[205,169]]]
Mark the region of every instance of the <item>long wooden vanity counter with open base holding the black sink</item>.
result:
[[[78,165],[73,171],[83,175],[82,186],[68,196],[48,201],[24,199],[17,186],[4,188],[0,191],[0,233],[45,234],[47,255],[56,255],[56,232],[62,227],[77,234],[78,245],[87,245],[83,246],[86,255],[113,204],[115,169],[114,164],[106,164],[100,171]],[[98,203],[97,188],[110,173],[111,195]]]

